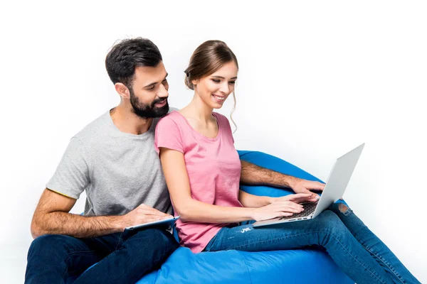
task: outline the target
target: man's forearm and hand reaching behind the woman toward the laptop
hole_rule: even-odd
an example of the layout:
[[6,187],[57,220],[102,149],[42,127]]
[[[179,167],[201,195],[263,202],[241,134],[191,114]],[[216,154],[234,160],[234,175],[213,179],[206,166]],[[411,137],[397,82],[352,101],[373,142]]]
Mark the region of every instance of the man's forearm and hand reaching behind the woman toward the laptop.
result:
[[[241,184],[243,185],[272,185],[275,187],[290,187],[295,193],[312,193],[310,190],[323,190],[325,184],[311,180],[302,180],[300,178],[285,175],[261,168],[244,160],[241,160]],[[318,195],[312,193],[312,199],[318,199]]]

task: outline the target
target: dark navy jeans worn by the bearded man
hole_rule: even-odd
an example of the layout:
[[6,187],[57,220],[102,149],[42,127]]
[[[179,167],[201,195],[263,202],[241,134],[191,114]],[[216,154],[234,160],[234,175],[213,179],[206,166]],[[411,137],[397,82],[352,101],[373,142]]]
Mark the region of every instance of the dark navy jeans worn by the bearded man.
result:
[[69,283],[73,278],[74,283],[135,283],[178,247],[174,236],[162,229],[91,239],[39,236],[28,251],[25,283]]

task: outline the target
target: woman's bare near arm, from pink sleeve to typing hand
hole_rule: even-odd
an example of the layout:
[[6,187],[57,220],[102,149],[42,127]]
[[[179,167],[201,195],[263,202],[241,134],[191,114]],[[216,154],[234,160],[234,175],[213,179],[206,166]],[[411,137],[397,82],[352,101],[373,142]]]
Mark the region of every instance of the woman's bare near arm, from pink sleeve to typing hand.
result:
[[183,222],[238,223],[290,216],[301,211],[300,204],[290,201],[275,202],[260,208],[242,208],[222,207],[194,200],[191,197],[184,154],[161,147],[159,155],[174,209]]

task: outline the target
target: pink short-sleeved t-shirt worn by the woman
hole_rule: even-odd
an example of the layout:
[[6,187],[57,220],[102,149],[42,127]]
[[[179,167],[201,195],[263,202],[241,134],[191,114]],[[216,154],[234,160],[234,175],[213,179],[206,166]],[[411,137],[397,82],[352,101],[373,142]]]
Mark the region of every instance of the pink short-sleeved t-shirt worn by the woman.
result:
[[[184,153],[194,200],[223,207],[243,207],[238,201],[241,161],[234,148],[231,127],[226,116],[215,112],[213,115],[219,131],[216,138],[208,138],[194,131],[178,111],[171,112],[157,124],[154,146],[157,153],[159,147]],[[176,230],[181,244],[199,253],[226,225],[178,220]]]

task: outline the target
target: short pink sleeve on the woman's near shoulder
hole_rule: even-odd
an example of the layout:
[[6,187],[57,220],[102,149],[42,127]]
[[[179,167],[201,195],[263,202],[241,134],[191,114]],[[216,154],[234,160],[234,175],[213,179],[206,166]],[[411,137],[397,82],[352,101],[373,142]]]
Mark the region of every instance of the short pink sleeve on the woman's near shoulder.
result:
[[161,147],[184,153],[184,143],[182,143],[179,126],[169,116],[165,116],[163,119],[160,119],[156,126],[154,147],[156,148],[157,154]]

